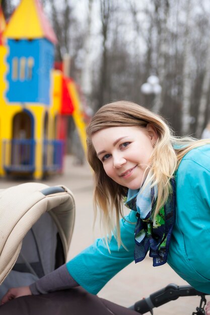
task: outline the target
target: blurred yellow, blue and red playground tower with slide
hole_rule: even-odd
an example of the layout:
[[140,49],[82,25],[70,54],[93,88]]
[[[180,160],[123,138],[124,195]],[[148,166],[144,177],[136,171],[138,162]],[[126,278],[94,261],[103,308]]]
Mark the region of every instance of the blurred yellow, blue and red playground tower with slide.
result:
[[9,22],[0,8],[0,176],[62,171],[66,116],[86,151],[76,83],[54,69],[56,36],[38,0],[21,0]]

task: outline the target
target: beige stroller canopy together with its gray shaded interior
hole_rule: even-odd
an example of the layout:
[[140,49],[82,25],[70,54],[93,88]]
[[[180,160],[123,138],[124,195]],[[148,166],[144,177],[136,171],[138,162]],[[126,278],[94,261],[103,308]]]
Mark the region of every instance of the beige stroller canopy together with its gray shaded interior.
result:
[[74,223],[74,197],[65,186],[0,190],[0,299],[65,263]]

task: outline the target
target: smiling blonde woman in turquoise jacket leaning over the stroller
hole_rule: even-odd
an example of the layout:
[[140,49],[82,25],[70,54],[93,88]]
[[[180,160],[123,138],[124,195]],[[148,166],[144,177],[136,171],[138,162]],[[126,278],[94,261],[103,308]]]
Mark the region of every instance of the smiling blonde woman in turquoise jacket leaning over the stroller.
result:
[[[31,286],[10,289],[2,303],[78,285],[97,294],[148,252],[153,266],[167,262],[195,289],[210,293],[210,140],[175,137],[160,116],[119,101],[95,114],[87,145],[95,209],[107,237]],[[130,209],[125,217],[123,202]],[[97,313],[91,307],[86,313]]]

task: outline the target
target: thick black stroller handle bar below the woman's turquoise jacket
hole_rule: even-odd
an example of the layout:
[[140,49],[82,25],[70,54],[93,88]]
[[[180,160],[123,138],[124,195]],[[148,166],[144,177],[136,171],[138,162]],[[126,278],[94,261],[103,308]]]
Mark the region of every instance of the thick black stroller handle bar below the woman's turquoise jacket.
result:
[[149,297],[137,301],[129,308],[137,311],[138,313],[145,314],[151,312],[154,307],[161,306],[169,301],[176,300],[180,296],[204,296],[206,293],[195,290],[190,285],[176,285],[174,283],[168,284],[166,287],[150,294]]

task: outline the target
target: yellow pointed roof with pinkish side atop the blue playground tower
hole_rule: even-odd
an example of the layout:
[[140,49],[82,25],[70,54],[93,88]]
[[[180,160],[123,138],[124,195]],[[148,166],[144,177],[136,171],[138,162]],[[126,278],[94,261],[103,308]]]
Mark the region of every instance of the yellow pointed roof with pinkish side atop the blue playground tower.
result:
[[8,23],[4,36],[15,39],[47,38],[53,44],[57,43],[39,0],[21,1]]

